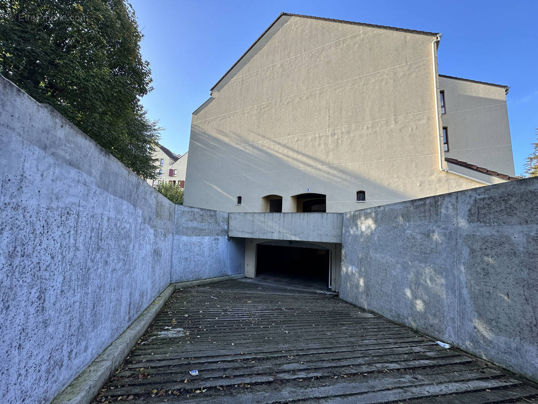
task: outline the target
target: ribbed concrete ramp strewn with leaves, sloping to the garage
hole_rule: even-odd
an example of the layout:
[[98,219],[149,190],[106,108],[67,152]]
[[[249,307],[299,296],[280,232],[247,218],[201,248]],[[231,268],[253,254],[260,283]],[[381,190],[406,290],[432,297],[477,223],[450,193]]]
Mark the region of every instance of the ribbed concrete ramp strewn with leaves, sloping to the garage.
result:
[[175,291],[95,402],[118,399],[498,403],[538,389],[336,296],[233,280]]

